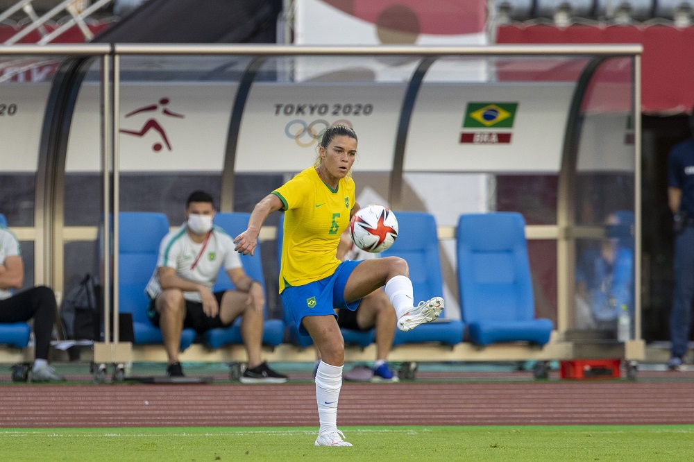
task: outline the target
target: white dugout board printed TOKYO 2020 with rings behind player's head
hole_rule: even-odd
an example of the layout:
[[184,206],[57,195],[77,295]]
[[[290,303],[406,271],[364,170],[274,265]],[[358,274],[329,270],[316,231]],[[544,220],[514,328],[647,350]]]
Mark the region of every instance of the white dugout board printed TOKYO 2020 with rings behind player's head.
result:
[[354,128],[355,169],[391,171],[400,85],[275,85],[257,83],[239,134],[237,171],[299,171],[313,164],[319,139],[337,123]]

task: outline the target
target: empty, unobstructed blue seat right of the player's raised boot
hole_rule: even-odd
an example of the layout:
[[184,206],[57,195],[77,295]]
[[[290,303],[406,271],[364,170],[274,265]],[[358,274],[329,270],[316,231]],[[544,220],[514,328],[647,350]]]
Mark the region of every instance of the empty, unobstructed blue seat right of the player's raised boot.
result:
[[548,343],[552,321],[535,319],[521,214],[461,215],[457,262],[463,320],[473,343]]

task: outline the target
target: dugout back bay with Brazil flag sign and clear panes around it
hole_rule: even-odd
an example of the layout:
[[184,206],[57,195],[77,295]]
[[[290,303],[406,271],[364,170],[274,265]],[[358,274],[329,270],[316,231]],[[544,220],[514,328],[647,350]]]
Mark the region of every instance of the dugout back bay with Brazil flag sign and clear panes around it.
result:
[[[439,226],[460,214],[511,211],[527,225],[557,225],[565,132],[588,58],[446,57],[425,75],[409,125],[403,207]],[[443,241],[455,283],[455,241]],[[528,241],[536,316],[557,325],[557,241]],[[453,287],[448,287],[453,289]]]

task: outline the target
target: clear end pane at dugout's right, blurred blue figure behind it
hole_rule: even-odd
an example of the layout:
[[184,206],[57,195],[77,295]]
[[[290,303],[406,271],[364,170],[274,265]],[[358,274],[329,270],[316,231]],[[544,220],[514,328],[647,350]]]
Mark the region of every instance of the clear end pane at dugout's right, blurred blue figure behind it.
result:
[[575,327],[607,336],[621,310],[634,318],[633,66],[632,58],[600,63],[577,120]]

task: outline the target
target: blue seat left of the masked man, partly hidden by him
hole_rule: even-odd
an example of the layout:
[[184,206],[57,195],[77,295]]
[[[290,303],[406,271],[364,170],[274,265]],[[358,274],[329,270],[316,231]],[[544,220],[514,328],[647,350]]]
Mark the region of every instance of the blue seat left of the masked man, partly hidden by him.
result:
[[[155,212],[121,212],[119,221],[119,310],[133,314],[135,345],[162,344],[162,331],[147,317],[149,297],[144,288],[157,266],[159,244],[169,232],[169,219]],[[193,343],[195,335],[192,329],[183,330],[181,351]]]

